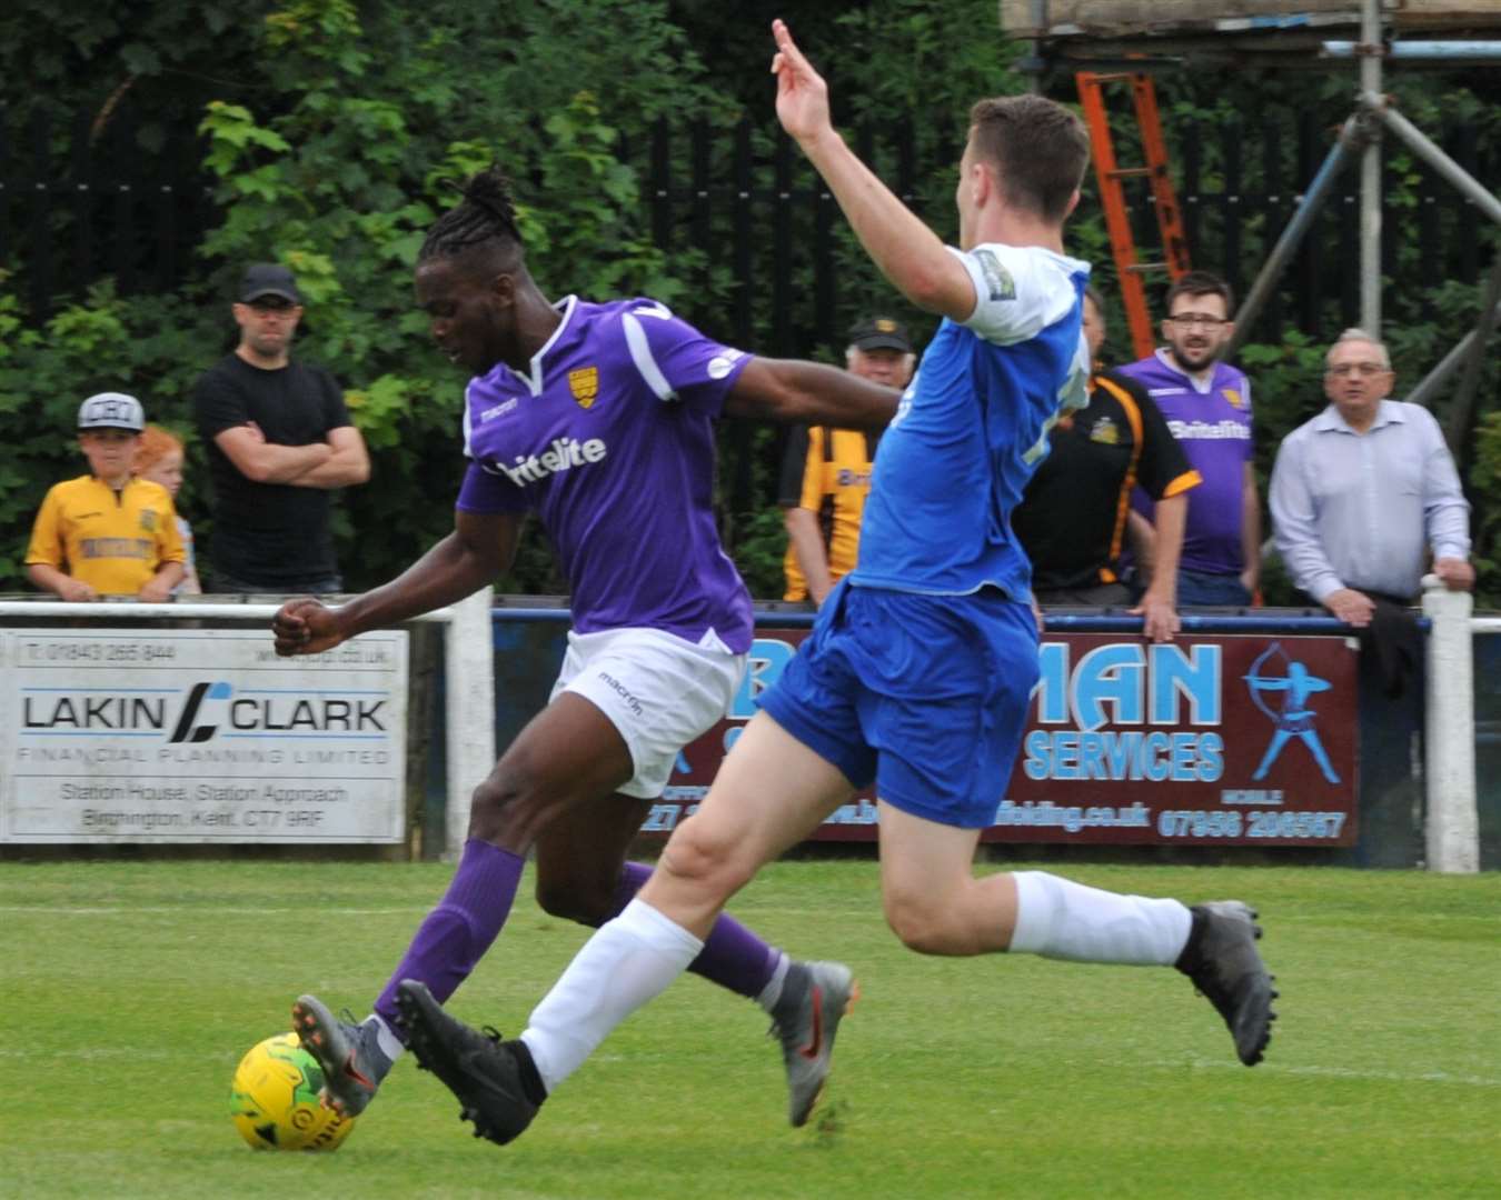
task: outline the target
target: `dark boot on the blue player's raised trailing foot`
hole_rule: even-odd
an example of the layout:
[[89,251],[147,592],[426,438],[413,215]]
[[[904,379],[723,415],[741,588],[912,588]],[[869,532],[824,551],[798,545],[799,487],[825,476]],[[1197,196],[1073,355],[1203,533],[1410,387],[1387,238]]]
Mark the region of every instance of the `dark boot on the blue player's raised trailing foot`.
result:
[[1255,1066],[1271,1041],[1271,1023],[1277,1018],[1271,1010],[1277,999],[1271,986],[1274,976],[1256,950],[1261,938],[1256,910],[1240,900],[1216,900],[1195,904],[1190,912],[1195,933],[1177,968],[1225,1018],[1240,1060]]

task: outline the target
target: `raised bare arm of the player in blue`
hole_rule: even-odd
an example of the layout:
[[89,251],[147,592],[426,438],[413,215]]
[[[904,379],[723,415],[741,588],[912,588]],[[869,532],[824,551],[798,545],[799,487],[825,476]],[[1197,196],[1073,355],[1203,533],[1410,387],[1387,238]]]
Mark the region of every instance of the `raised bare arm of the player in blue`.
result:
[[964,264],[835,130],[829,117],[829,86],[803,57],[787,26],[773,21],[772,34],[776,38],[772,60],[776,116],[824,177],[860,244],[917,308],[955,321],[968,320],[976,296]]

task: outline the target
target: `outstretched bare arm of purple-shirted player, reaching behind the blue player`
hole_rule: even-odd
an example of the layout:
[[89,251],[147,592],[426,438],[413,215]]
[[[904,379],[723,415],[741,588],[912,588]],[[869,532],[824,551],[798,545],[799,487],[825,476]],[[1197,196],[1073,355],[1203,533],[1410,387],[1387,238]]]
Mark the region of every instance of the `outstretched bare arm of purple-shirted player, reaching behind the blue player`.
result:
[[758,357],[740,372],[725,396],[723,411],[731,417],[836,429],[884,429],[896,414],[901,394],[836,366]]

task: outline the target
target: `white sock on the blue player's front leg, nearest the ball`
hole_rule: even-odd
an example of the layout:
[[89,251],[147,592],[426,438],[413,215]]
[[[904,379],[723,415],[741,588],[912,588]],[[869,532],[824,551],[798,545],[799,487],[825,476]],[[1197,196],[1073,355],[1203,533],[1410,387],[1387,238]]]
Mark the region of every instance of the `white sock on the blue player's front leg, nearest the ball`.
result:
[[531,1012],[521,1040],[551,1094],[605,1035],[666,990],[704,944],[644,900],[600,926]]

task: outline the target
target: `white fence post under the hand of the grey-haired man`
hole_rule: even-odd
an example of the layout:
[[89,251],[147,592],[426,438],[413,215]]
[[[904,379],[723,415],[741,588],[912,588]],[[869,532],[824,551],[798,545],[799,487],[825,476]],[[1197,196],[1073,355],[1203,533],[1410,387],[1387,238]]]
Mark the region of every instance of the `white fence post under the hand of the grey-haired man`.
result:
[[1427,868],[1453,874],[1480,870],[1480,814],[1475,807],[1474,646],[1468,591],[1448,591],[1436,576],[1423,580],[1427,636]]

